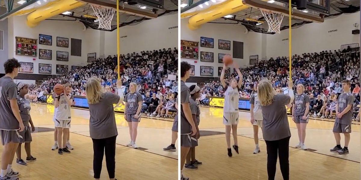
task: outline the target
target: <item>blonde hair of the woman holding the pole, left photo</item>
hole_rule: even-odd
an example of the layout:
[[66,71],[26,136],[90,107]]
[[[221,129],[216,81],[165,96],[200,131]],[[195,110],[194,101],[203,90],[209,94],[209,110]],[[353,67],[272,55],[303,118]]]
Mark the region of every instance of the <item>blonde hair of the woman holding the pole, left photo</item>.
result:
[[104,98],[104,89],[97,77],[88,78],[85,93],[89,104],[99,103]]

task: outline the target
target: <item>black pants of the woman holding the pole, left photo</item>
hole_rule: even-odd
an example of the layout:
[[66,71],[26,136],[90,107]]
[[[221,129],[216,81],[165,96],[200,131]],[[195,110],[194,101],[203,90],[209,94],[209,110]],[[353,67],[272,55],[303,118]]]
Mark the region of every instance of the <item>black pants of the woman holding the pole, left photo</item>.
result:
[[94,178],[100,178],[101,165],[103,164],[104,149],[105,149],[105,161],[106,169],[108,170],[109,178],[115,177],[115,141],[117,136],[113,136],[105,139],[92,139],[93,140],[93,170]]

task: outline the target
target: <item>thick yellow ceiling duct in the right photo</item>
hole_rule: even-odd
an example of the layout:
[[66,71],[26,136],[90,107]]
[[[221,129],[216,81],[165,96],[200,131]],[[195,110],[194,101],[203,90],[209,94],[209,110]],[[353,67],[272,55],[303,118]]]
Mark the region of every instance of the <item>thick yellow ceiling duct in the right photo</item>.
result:
[[189,18],[188,28],[196,30],[202,24],[249,8],[242,0],[230,0],[214,8],[208,8]]

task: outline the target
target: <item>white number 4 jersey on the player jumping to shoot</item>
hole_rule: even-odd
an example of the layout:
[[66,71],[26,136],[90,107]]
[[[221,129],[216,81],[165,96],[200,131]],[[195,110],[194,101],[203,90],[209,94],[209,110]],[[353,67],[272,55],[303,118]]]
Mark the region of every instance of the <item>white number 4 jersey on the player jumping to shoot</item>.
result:
[[225,103],[223,112],[238,112],[239,92],[238,88],[226,87]]

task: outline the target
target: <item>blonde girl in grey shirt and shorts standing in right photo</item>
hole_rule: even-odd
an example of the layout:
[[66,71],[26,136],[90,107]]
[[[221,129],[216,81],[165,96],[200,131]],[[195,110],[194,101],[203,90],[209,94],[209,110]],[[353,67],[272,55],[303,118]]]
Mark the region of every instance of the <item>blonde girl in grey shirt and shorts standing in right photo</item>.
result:
[[298,139],[300,140],[300,142],[296,145],[296,148],[306,150],[306,126],[309,117],[308,111],[310,109],[310,98],[307,94],[303,93],[305,86],[298,84],[296,88],[297,95],[295,96],[295,100],[292,102],[292,120],[296,123]]

